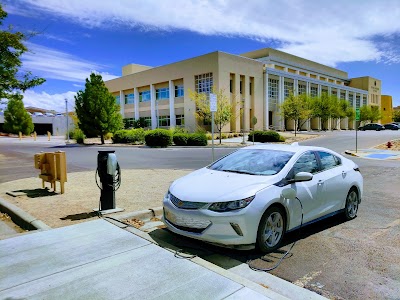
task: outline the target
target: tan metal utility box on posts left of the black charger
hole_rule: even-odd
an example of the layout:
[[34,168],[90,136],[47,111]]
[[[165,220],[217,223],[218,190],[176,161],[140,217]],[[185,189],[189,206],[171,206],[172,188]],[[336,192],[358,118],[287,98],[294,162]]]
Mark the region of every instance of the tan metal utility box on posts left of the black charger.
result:
[[39,178],[42,187],[50,182],[51,188],[56,191],[56,181],[60,182],[61,194],[64,194],[64,183],[67,182],[67,160],[65,152],[42,152],[34,155],[35,168],[40,170]]

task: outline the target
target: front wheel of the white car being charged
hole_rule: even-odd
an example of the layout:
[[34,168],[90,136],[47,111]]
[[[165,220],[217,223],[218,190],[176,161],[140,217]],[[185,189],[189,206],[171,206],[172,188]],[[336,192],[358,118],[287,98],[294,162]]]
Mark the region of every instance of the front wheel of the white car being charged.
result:
[[262,252],[271,252],[280,247],[285,234],[286,220],[281,208],[268,208],[258,225],[257,244]]

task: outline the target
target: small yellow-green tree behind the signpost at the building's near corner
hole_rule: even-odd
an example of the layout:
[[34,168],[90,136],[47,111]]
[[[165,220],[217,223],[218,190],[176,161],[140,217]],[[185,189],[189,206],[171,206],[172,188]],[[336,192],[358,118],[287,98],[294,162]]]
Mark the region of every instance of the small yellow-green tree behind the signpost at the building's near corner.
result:
[[[213,90],[213,93],[217,95],[217,111],[214,112],[214,124],[219,132],[219,143],[221,144],[222,128],[227,125],[231,121],[232,116],[234,116],[233,105],[228,97],[225,96],[224,90]],[[209,96],[205,93],[197,93],[189,90],[189,98],[196,103],[196,118],[203,121],[211,120]]]

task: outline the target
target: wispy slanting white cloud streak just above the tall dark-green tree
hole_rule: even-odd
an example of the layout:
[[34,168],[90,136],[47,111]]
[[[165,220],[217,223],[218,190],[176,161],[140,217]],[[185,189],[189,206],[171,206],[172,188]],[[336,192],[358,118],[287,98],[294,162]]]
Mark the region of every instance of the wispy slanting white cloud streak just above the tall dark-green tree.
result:
[[23,67],[46,79],[84,82],[91,72],[101,74],[103,80],[117,77],[107,72],[101,72],[106,66],[52,48],[33,43],[27,44],[30,52],[26,52],[22,56]]

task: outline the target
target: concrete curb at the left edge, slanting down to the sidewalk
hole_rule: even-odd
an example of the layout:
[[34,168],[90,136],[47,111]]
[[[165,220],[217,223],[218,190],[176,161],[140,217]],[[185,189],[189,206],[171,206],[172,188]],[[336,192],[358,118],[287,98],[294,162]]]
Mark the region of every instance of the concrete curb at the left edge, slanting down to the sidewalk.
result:
[[19,207],[0,198],[0,211],[8,214],[13,222],[26,230],[49,230],[50,226],[36,219]]

